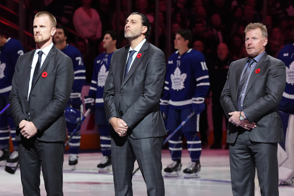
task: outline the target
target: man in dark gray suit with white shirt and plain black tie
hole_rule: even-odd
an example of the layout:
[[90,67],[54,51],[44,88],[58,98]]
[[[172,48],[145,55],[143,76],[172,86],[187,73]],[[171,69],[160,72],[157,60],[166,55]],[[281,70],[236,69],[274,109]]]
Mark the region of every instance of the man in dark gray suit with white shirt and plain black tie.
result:
[[36,49],[20,56],[15,66],[9,102],[17,125],[23,194],[40,195],[40,169],[47,195],[63,195],[62,164],[66,122],[64,109],[74,82],[70,57],[52,43],[55,17],[36,14]]

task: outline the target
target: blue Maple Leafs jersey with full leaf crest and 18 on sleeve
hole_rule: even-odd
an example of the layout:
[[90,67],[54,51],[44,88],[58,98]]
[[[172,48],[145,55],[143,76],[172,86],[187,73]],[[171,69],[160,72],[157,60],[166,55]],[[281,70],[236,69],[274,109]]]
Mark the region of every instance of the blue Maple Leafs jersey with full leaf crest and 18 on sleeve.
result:
[[168,59],[164,95],[161,105],[171,109],[191,108],[202,104],[209,89],[209,76],[204,55],[189,49],[183,55],[174,52]]

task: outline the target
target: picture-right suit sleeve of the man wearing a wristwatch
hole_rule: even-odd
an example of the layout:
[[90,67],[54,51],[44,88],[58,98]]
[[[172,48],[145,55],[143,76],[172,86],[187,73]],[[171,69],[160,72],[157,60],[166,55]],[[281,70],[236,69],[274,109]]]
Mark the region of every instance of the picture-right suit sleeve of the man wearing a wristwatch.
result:
[[276,107],[282,99],[285,86],[285,63],[278,61],[272,66],[272,69],[269,70],[265,95],[244,109],[244,113],[249,122],[253,122],[254,119]]

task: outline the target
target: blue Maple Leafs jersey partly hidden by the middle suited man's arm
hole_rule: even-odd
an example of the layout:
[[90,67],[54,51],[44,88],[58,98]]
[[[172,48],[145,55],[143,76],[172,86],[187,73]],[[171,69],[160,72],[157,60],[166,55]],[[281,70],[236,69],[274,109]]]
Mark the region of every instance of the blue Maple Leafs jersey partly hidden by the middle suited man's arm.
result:
[[110,54],[106,54],[105,52],[103,52],[102,54],[98,55],[94,60],[93,77],[88,97],[95,100],[96,107],[104,106],[103,90],[108,75],[112,54],[113,52]]

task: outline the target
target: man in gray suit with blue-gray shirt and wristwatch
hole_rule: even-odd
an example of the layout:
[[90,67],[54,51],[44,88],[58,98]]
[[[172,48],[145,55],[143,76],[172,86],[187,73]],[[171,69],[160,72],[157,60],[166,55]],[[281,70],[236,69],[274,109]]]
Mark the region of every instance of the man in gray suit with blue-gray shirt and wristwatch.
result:
[[229,118],[233,195],[254,195],[257,170],[261,195],[279,195],[277,143],[283,141],[278,104],[285,89],[284,62],[266,54],[267,29],[245,28],[248,58],[231,63],[220,103]]

